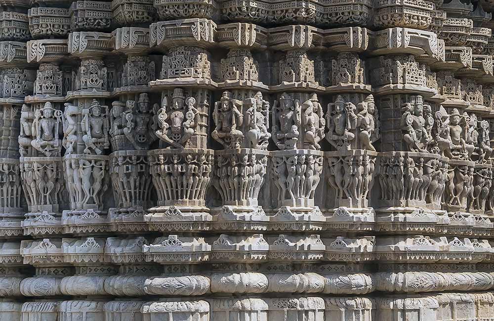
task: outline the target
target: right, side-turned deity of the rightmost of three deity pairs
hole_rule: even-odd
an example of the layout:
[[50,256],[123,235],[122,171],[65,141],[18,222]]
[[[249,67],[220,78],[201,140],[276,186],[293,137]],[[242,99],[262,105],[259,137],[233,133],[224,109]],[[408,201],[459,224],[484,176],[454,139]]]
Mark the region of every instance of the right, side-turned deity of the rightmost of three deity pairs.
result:
[[376,126],[377,111],[375,109],[374,96],[369,95],[357,105],[357,127],[360,146],[358,148],[375,152],[372,143],[379,139],[379,128]]

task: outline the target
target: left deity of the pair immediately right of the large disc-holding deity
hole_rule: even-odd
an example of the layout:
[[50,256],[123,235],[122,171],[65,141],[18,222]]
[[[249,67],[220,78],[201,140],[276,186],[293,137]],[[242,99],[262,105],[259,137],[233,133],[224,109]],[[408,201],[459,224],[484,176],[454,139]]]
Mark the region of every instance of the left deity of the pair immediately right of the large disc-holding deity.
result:
[[[240,110],[239,110],[240,108]],[[240,148],[244,133],[239,130],[244,122],[242,102],[230,98],[228,91],[223,92],[220,101],[214,103],[213,120],[216,127],[211,136],[224,148]]]

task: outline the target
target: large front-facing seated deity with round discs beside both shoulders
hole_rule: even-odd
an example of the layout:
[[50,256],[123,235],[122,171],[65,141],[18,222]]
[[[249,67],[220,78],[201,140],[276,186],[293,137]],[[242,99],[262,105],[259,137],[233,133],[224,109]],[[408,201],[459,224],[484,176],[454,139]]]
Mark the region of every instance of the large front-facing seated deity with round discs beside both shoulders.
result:
[[173,148],[183,149],[189,144],[199,123],[196,99],[185,99],[183,90],[175,88],[171,97],[165,96],[163,107],[158,110],[159,128],[156,136]]

